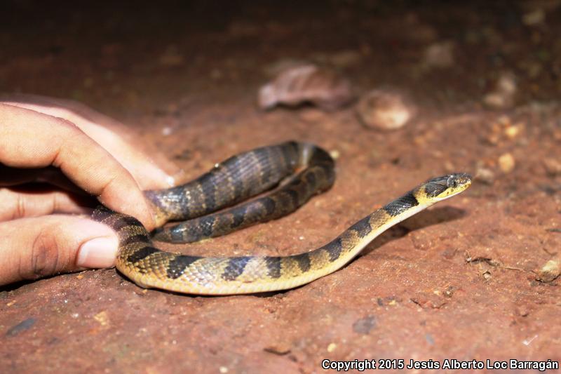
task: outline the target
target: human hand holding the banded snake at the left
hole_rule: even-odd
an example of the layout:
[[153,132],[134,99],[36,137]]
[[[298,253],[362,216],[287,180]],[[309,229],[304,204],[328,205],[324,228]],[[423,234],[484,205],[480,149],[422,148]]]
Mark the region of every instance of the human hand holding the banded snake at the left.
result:
[[122,129],[76,102],[0,98],[0,285],[113,266],[117,237],[88,218],[94,199],[154,228],[142,190],[170,187],[179,171]]

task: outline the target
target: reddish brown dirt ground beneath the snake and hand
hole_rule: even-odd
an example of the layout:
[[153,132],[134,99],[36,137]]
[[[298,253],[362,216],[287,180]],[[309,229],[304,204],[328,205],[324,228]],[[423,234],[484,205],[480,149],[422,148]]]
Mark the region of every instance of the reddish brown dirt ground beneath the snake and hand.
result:
[[[323,359],[561,360],[561,279],[535,274],[561,257],[561,176],[543,161],[561,160],[561,9],[302,3],[54,9],[13,1],[0,15],[0,88],[74,98],[114,116],[189,178],[287,139],[339,152],[329,192],[286,218],[185,246],[189,253],[299,253],[431,176],[494,175],[389,230],[339,272],[282,293],[178,295],[143,290],[114,269],[8,286],[0,292],[3,372],[313,373]],[[534,8],[545,17],[537,24],[527,21]],[[452,65],[426,67],[424,51],[443,41],[454,45]],[[257,89],[283,60],[327,62],[359,91],[398,88],[417,117],[379,133],[352,107],[260,112]],[[516,78],[514,107],[484,109],[505,71]],[[501,171],[503,154],[513,156],[512,171]]]

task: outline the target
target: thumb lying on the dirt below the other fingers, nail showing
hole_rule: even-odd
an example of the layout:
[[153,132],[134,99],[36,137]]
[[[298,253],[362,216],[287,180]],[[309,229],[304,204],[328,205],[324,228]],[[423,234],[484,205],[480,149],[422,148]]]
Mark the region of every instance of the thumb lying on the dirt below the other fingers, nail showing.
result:
[[119,246],[106,225],[68,215],[2,222],[0,238],[0,285],[84,267],[111,267]]

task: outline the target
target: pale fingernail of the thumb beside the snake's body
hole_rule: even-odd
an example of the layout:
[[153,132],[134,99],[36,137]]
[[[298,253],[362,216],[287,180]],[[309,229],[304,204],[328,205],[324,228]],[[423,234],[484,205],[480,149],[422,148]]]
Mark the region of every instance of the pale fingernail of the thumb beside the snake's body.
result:
[[79,267],[111,267],[117,255],[116,238],[95,238],[83,243],[78,252],[76,265]]

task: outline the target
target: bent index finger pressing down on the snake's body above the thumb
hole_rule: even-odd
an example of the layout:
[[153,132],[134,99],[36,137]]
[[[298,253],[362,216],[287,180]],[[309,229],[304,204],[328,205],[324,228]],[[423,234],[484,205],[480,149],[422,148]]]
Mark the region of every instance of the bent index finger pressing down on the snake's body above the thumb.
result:
[[130,173],[72,122],[0,104],[0,163],[14,168],[55,166],[107,207],[140,220],[154,220]]

